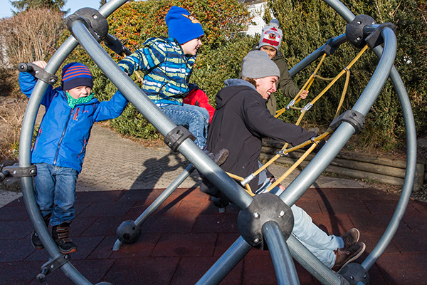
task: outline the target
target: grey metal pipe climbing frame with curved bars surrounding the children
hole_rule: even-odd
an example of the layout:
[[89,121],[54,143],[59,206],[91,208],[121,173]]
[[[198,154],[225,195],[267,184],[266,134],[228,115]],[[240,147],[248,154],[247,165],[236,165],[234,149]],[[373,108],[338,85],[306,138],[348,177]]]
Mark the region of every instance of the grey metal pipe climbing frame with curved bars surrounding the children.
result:
[[[294,76],[322,56],[322,53],[325,53],[328,49],[334,50],[346,41],[351,41],[355,46],[357,46],[358,42],[360,43],[365,40],[371,43],[369,47],[376,53],[376,56],[380,58],[379,64],[352,110],[366,116],[371,105],[373,105],[379,95],[381,88],[384,86],[386,79],[390,76],[403,108],[408,145],[406,177],[396,212],[391,219],[389,227],[386,229],[386,232],[384,232],[383,237],[381,237],[379,243],[371,254],[369,254],[369,257],[364,260],[362,265],[348,264],[345,273],[343,270],[338,274],[334,273],[290,234],[293,227],[293,217],[292,214],[290,214],[289,207],[304,194],[313,182],[315,182],[317,177],[320,176],[327,165],[329,165],[332,159],[338,154],[339,150],[344,147],[347,140],[355,133],[354,124],[352,122],[342,120],[342,123],[337,130],[334,131],[327,145],[317,153],[316,157],[305,167],[305,170],[295,178],[280,197],[271,194],[251,197],[251,195],[248,195],[248,193],[231,179],[231,177],[226,175],[218,165],[210,160],[199,147],[196,147],[191,139],[189,140],[177,135],[178,138],[172,142],[172,145],[191,162],[191,165],[168,187],[168,190],[164,192],[164,196],[169,195],[169,192],[176,189],[176,187],[188,177],[189,174],[187,172],[191,172],[196,168],[214,183],[231,202],[241,209],[238,225],[239,229],[241,229],[242,237],[239,237],[236,242],[234,242],[223,256],[216,261],[214,266],[204,274],[197,284],[218,284],[228,272],[243,259],[252,247],[258,249],[266,249],[268,247],[270,249],[279,284],[299,284],[295,266],[292,263],[292,257],[304,266],[307,271],[310,271],[310,273],[322,284],[368,284],[369,274],[367,271],[384,252],[384,249],[394,236],[399,222],[404,215],[409,196],[411,195],[413,178],[415,176],[416,131],[411,104],[409,103],[406,89],[401,81],[399,73],[393,66],[394,57],[396,56],[396,36],[391,25],[377,25],[374,21],[367,23],[365,21],[367,20],[367,16],[354,16],[354,14],[352,14],[352,12],[340,1],[324,1],[337,11],[345,21],[355,26],[356,33],[352,35],[352,37],[349,37],[348,31],[346,31],[347,35],[343,34],[336,38],[332,38],[327,44],[318,48],[310,54],[310,56],[307,56],[307,58],[292,68],[290,70],[290,75]],[[73,36],[70,36],[70,38],[60,46],[58,51],[56,51],[55,55],[48,62],[45,71],[51,74],[56,73],[61,63],[65,61],[65,58],[73,51],[75,46],[80,43],[93,61],[95,61],[97,66],[99,66],[105,75],[110,78],[112,83],[122,91],[139,112],[141,112],[162,135],[167,137],[168,134],[169,136],[172,133],[179,134],[180,132],[179,130],[177,131],[176,125],[174,125],[174,123],[172,123],[172,121],[147,98],[144,92],[120,70],[117,64],[98,43],[103,37],[108,36],[108,27],[105,28],[105,23],[107,24],[105,18],[110,16],[113,11],[122,6],[122,4],[125,4],[125,2],[126,0],[110,0],[107,4],[102,6],[99,11],[95,9],[81,9],[84,11],[79,10],[80,14],[79,11],[76,11],[75,14],[69,16],[67,24]],[[370,19],[368,19],[368,21],[370,21]],[[368,41],[369,36],[371,37],[371,41]],[[372,40],[372,38],[374,38],[374,40]],[[378,44],[383,41],[384,49]],[[20,169],[28,169],[28,167],[31,167],[31,138],[41,98],[47,86],[48,83],[41,80],[38,81],[28,101],[28,107],[21,129],[19,152]],[[181,140],[179,140],[179,138],[181,138]],[[176,143],[177,141],[179,141],[178,144]],[[38,232],[48,254],[51,256],[51,259],[42,266],[42,272],[38,275],[38,279],[43,281],[46,279],[47,274],[54,269],[60,268],[75,284],[91,284],[90,281],[85,279],[85,277],[75,269],[67,254],[60,254],[58,247],[56,247],[56,244],[48,233],[48,229],[43,222],[36,204],[32,176],[23,175],[23,177],[21,177],[21,186],[23,199],[33,227]],[[158,202],[161,203],[160,200]],[[265,207],[265,205],[268,205],[268,207]],[[271,205],[274,206],[271,207]],[[154,208],[157,206],[156,204],[153,205]],[[266,213],[267,208],[270,209],[270,213]],[[273,209],[273,211],[271,211],[271,209]],[[147,215],[149,214],[151,213],[147,212]],[[254,223],[257,224],[256,227],[248,227],[240,221],[241,216],[246,217],[246,219],[242,218],[242,220],[246,221],[248,221],[248,219],[263,217],[263,223]],[[146,219],[146,217],[140,218],[141,220]],[[137,222],[141,222],[141,220]],[[120,245],[118,245],[118,247],[120,247]],[[100,284],[110,283],[98,283],[98,285]]]

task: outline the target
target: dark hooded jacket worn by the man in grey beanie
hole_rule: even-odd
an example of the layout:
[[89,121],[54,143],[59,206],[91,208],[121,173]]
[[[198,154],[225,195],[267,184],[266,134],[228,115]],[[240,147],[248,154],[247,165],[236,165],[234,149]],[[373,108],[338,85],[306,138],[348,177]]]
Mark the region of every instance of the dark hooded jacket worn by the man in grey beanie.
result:
[[[303,128],[276,119],[265,107],[265,99],[251,83],[228,79],[216,94],[216,111],[209,126],[207,147],[210,152],[226,148],[229,152],[221,168],[240,177],[258,170],[263,138],[298,145],[317,136]],[[250,183],[258,189],[258,180]],[[201,190],[204,191],[201,187]]]

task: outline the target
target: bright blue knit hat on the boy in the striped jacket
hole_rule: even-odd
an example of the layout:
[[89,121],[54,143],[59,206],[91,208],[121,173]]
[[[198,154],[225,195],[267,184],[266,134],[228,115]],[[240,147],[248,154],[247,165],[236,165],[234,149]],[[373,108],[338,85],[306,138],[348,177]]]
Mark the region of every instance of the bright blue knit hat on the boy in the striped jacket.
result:
[[167,24],[169,38],[175,38],[179,44],[204,36],[199,21],[184,8],[172,6],[164,21]]

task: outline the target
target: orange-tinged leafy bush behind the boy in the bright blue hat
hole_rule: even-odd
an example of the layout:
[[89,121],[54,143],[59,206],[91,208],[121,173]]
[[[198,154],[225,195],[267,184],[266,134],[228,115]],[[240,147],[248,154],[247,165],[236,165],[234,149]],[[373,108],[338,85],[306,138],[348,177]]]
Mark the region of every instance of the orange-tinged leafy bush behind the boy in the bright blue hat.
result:
[[[181,6],[194,14],[204,28],[204,45],[199,50],[191,82],[206,91],[212,103],[223,81],[238,76],[238,68],[243,56],[251,49],[253,39],[242,35],[251,19],[248,11],[237,0],[159,0],[136,1],[123,5],[107,20],[109,33],[135,51],[142,47],[147,38],[167,36],[164,17],[171,6]],[[66,32],[62,41],[70,35]],[[106,48],[110,56],[118,62],[118,56]],[[78,47],[65,63],[80,61],[90,66],[94,74],[94,92],[101,100],[108,100],[115,92],[115,86],[90,60],[85,51]],[[135,78],[132,77],[135,80]],[[159,133],[130,104],[125,112],[111,125],[120,133],[137,138],[159,138]]]

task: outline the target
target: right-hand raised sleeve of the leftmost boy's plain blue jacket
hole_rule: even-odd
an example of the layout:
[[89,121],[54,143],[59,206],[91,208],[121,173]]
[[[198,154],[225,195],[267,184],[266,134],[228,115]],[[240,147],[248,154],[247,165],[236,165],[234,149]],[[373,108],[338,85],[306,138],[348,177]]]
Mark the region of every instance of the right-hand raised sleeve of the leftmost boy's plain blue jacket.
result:
[[117,90],[117,92],[112,96],[111,100],[102,101],[97,106],[97,109],[93,115],[95,122],[117,118],[122,114],[123,110],[125,110],[128,102],[129,101],[120,92],[120,90]]

